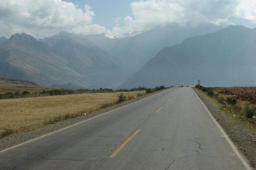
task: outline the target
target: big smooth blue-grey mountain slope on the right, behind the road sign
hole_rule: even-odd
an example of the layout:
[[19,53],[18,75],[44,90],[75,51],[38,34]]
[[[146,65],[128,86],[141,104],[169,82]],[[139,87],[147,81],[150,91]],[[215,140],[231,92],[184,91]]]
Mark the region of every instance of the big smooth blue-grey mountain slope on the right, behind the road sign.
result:
[[229,26],[164,48],[120,88],[256,85],[256,29]]

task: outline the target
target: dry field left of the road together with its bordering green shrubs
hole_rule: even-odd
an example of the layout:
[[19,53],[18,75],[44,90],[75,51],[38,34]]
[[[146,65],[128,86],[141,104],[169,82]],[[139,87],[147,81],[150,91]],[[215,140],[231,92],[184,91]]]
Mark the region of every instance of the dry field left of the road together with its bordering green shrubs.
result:
[[42,95],[38,97],[28,91],[8,93],[10,96],[16,96],[0,100],[0,138],[28,132],[84,113],[89,115],[99,109],[139,98],[149,93],[146,92],[149,89],[152,93],[164,88],[166,87],[139,87],[131,90],[51,90],[36,93]]

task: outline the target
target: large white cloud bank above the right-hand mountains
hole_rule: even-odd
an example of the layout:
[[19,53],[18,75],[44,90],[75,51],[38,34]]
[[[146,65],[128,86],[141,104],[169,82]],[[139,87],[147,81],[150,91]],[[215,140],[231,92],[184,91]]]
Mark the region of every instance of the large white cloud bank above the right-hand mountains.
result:
[[146,0],[133,2],[130,7],[133,17],[123,18],[123,26],[107,30],[108,34],[121,36],[169,22],[181,26],[204,22],[236,24],[229,21],[231,17],[256,23],[255,0]]

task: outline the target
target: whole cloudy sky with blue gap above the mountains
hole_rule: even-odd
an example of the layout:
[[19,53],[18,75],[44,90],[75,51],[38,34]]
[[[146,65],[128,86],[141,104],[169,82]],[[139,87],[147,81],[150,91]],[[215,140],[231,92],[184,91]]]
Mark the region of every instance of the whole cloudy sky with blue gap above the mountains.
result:
[[256,27],[256,0],[0,0],[0,36],[60,31],[119,35],[159,24]]

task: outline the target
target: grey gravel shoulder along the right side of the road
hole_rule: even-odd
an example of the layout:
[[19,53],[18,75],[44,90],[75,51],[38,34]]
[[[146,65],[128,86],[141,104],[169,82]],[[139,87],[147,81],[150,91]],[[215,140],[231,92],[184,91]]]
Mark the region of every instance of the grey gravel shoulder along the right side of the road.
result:
[[202,95],[202,92],[193,88],[195,93],[209,109],[213,117],[225,130],[233,143],[236,144],[240,152],[246,156],[251,166],[256,169],[256,134],[240,124],[233,122],[214,104],[208,97]]

